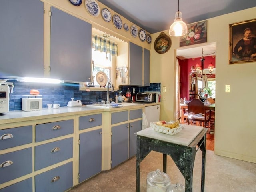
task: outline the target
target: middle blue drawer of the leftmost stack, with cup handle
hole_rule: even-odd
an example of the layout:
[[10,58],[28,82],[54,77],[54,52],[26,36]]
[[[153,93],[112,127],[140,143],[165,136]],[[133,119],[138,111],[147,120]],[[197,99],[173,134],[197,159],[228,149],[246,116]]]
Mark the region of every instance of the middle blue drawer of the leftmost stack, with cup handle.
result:
[[0,155],[0,184],[32,173],[32,147]]

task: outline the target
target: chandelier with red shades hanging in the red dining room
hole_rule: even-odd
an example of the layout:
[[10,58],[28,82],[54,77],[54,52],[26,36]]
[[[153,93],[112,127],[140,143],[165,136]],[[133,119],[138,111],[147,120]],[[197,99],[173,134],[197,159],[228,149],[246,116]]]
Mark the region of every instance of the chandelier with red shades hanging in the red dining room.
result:
[[[211,54],[214,54],[215,52],[211,53]],[[209,54],[210,55],[210,54]],[[212,63],[209,63],[208,65],[208,69],[209,69],[209,74],[206,74],[204,72],[204,48],[202,48],[202,57],[201,57],[201,65],[199,63],[196,64],[196,67],[192,66],[191,67],[191,72],[192,74],[198,76],[199,78],[202,78],[202,77],[211,77],[212,76],[212,72],[213,72],[213,64]]]

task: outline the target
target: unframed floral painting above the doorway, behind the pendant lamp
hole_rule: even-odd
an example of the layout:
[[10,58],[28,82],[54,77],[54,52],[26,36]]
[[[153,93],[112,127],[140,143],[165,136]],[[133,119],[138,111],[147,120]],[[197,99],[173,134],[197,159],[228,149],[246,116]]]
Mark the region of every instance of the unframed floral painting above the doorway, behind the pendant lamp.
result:
[[180,37],[180,47],[207,42],[207,20],[187,26],[187,34]]

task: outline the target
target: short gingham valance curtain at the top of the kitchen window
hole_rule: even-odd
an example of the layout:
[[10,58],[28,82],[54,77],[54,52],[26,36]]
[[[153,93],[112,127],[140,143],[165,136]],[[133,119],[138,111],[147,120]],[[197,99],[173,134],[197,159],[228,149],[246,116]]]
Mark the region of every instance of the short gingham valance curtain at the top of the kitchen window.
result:
[[92,48],[111,56],[117,56],[117,44],[97,35],[92,36]]

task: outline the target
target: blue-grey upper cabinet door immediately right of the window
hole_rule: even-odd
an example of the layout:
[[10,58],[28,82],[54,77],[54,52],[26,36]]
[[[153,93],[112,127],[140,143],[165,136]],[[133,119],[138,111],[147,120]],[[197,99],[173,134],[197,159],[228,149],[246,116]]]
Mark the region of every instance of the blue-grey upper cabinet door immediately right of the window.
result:
[[130,85],[143,85],[142,84],[142,65],[143,65],[143,53],[142,47],[130,42]]

